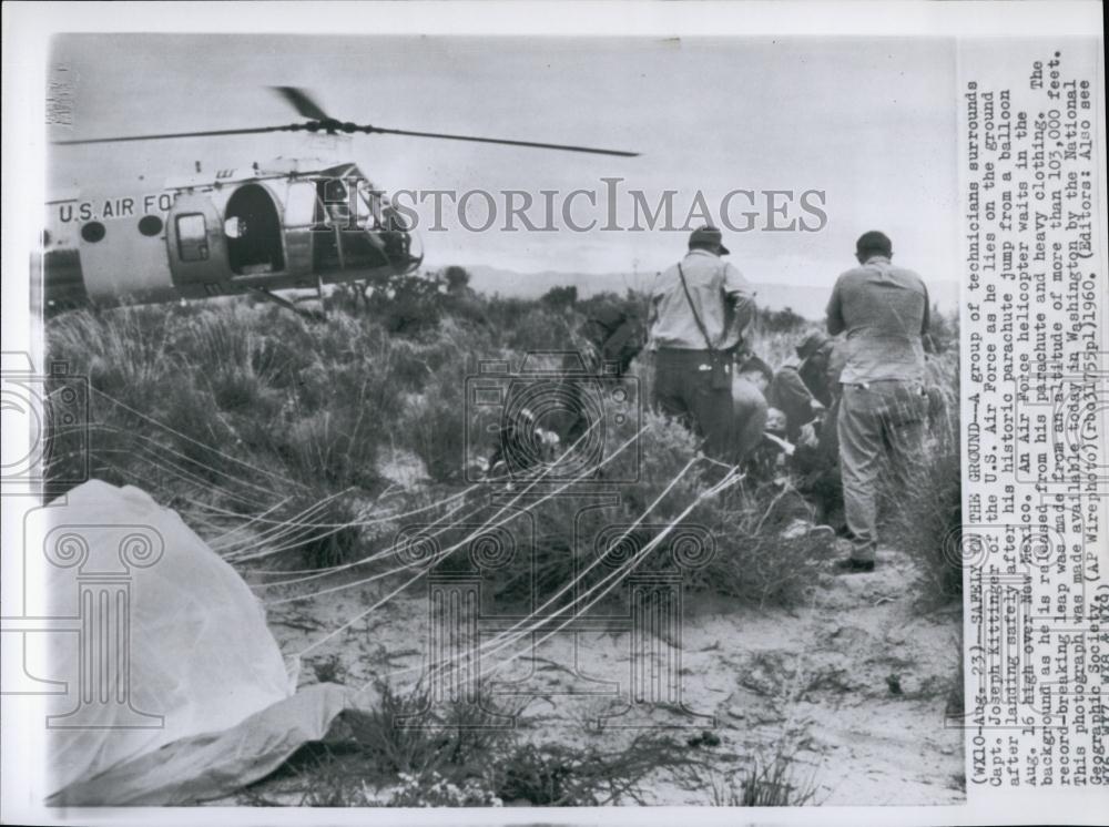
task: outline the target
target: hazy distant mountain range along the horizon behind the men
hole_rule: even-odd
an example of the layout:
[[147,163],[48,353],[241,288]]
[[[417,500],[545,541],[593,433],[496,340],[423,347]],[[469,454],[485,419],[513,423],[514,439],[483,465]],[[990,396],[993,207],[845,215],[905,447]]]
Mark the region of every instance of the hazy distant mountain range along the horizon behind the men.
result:
[[[647,290],[650,288],[653,273],[559,273],[542,270],[541,273],[516,273],[486,265],[474,265],[466,268],[470,273],[470,286],[486,295],[519,296],[521,298],[538,298],[551,287],[578,288],[582,298],[606,290],[623,293],[628,288]],[[824,318],[824,307],[827,305],[831,286],[755,283],[756,300],[760,306],[781,310],[791,308],[808,319]],[[928,294],[933,304],[950,313],[958,307],[958,282],[929,282]]]

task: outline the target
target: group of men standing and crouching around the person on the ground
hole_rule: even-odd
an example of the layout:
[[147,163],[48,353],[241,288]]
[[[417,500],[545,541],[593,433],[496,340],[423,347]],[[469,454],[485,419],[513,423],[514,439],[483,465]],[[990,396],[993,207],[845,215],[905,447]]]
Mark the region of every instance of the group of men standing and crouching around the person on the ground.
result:
[[822,522],[837,522],[842,498],[851,553],[837,568],[873,571],[883,469],[904,489],[920,463],[927,287],[892,264],[885,234],[864,233],[858,266],[832,288],[826,333],[805,336],[796,358],[773,371],[750,353],[755,297],[726,255],[720,231],[702,227],[681,262],[655,277],[654,407],[685,423],[721,462],[754,472],[787,462]]

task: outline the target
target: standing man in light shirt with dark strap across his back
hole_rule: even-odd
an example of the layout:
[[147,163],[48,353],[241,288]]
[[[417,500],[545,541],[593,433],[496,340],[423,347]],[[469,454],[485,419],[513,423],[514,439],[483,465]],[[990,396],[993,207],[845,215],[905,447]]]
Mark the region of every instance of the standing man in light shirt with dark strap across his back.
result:
[[721,241],[715,227],[693,231],[686,256],[654,279],[650,320],[655,408],[701,437],[705,453],[729,460],[732,363],[754,313],[754,294],[721,259],[729,253]]

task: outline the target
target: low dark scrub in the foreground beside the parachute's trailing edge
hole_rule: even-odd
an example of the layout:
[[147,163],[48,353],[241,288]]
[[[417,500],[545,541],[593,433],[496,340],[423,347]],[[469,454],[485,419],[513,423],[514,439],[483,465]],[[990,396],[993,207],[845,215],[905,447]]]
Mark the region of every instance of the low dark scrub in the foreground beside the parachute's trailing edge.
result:
[[294,778],[307,806],[466,807],[527,803],[569,807],[642,803],[644,785],[660,773],[695,776],[705,759],[657,733],[639,733],[602,751],[530,743],[520,728],[481,726],[456,706],[439,722],[400,725],[426,706],[419,694],[379,685],[380,704],[347,709],[323,745],[306,745],[245,799],[266,804],[261,789]]

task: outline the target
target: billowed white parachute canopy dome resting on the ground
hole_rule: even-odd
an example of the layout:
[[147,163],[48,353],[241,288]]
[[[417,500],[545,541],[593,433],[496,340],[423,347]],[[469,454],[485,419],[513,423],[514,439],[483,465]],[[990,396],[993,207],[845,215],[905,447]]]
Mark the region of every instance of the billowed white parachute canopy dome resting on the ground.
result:
[[155,764],[135,759],[228,731],[294,694],[296,675],[246,583],[138,488],[87,482],[32,512],[26,537],[23,613],[48,619],[51,633],[26,635],[24,677],[50,693],[55,797],[69,798],[73,785],[87,803],[142,799],[149,790],[133,772],[89,785],[129,762]]

